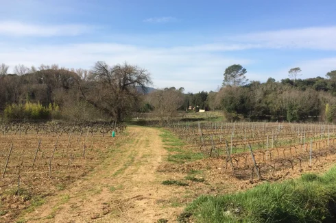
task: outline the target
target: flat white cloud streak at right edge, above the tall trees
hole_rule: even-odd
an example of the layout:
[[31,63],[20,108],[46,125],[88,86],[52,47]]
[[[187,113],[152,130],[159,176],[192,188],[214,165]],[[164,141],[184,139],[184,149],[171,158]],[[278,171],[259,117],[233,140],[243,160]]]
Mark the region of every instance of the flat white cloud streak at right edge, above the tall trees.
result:
[[336,27],[309,27],[302,29],[283,29],[261,31],[231,36],[235,42],[259,44],[265,49],[321,49],[336,50]]

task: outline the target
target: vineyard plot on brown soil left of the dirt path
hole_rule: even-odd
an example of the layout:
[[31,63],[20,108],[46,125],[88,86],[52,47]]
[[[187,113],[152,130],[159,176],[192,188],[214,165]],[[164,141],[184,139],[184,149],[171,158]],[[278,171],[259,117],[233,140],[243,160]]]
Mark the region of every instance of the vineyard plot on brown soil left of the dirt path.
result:
[[0,216],[10,220],[64,189],[112,152],[125,126],[0,123]]

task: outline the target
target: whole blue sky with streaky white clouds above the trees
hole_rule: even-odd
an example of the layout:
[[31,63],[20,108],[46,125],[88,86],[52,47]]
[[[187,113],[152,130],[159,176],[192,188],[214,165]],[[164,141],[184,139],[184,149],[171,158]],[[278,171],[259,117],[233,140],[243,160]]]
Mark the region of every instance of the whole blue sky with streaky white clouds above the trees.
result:
[[0,63],[151,73],[154,88],[217,90],[241,64],[250,81],[336,70],[335,0],[0,0]]

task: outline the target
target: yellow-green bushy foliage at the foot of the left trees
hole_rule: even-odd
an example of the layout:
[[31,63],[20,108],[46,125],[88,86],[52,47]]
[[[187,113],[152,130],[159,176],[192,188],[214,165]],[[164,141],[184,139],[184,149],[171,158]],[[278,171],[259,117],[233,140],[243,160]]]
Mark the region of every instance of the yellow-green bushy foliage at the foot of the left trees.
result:
[[44,107],[40,103],[27,102],[23,104],[12,104],[5,107],[5,117],[8,119],[48,119],[51,116],[58,115],[60,107],[55,103],[49,104],[49,107]]

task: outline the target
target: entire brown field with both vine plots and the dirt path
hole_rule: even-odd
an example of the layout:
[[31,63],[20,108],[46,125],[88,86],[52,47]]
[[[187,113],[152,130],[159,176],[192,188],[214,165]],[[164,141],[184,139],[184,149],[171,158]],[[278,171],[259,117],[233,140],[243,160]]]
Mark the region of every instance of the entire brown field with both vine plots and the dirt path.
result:
[[51,122],[0,129],[0,222],[204,222],[196,217],[213,199],[207,196],[265,182],[277,188],[275,181],[326,172],[336,161],[336,129],[324,123],[180,121],[126,129]]

